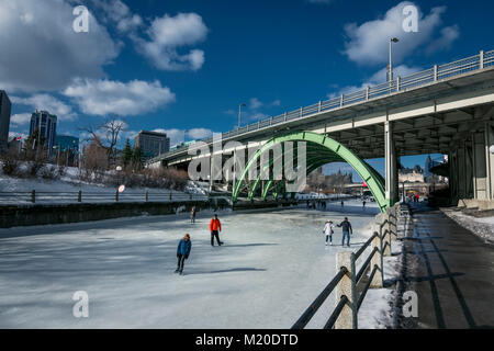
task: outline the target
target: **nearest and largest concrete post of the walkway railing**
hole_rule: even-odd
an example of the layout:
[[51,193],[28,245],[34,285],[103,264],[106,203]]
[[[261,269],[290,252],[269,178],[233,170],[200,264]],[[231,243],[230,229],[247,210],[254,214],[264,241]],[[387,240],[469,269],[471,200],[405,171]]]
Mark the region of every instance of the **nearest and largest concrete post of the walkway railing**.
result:
[[352,275],[355,272],[351,271],[352,252],[338,252],[336,254],[336,271],[339,272],[341,267],[347,268],[348,272],[345,276],[339,281],[339,284],[336,285],[336,305],[338,305],[341,296],[347,296],[348,304],[341,309],[341,313],[338,316],[338,319],[335,322],[335,329],[352,329],[357,325],[357,320],[355,320],[355,314],[350,306],[353,305],[353,292],[352,292]]

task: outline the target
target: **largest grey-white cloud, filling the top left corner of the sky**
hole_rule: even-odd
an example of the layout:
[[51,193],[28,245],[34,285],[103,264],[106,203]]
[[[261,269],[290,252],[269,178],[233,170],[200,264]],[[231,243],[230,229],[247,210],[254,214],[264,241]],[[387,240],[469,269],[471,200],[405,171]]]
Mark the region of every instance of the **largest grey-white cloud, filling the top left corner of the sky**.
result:
[[75,77],[99,78],[119,46],[90,15],[72,30],[72,1],[0,0],[0,82],[11,91],[59,90]]

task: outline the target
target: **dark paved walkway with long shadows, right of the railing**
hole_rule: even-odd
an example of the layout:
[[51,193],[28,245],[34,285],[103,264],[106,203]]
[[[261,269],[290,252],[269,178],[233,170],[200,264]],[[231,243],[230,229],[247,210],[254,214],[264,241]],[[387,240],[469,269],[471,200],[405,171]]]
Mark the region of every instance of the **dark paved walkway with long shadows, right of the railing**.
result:
[[[405,281],[418,319],[405,328],[494,328],[494,249],[439,211],[414,213]],[[409,320],[407,320],[409,321]]]

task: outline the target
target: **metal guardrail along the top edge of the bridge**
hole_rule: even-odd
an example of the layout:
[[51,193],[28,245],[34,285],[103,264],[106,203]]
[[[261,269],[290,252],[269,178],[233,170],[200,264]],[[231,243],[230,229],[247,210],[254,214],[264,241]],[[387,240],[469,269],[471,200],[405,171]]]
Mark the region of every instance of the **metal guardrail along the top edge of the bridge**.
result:
[[[382,98],[398,92],[405,92],[413,88],[427,86],[430,83],[439,82],[442,79],[460,76],[467,72],[484,69],[486,67],[494,66],[494,50],[480,52],[479,55],[467,57],[453,63],[445,65],[435,65],[433,68],[426,69],[420,72],[408,75],[405,77],[396,77],[391,82],[384,82],[374,87],[368,87],[367,89],[350,92],[348,94],[341,94],[340,97],[333,98],[326,101],[319,101],[316,104],[300,107],[292,112],[285,112],[274,117],[268,117],[260,120],[256,123],[251,123],[247,126],[222,133],[222,139],[227,139],[234,136],[238,136],[252,131],[263,129],[273,125],[283,124],[293,120],[304,118],[321,112],[327,112],[338,110],[356,103],[367,102],[372,99]],[[213,143],[213,138],[200,139],[206,144]],[[193,145],[192,145],[193,146]],[[159,161],[165,155],[173,156],[182,152],[187,148],[178,148],[173,151],[162,154],[147,161],[153,163]]]

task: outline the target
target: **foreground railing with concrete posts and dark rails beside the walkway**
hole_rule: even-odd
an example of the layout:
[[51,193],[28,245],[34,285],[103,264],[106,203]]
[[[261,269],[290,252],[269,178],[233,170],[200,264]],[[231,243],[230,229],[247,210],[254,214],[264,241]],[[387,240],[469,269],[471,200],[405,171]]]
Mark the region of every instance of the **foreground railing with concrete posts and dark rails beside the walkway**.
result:
[[[369,288],[383,287],[383,258],[391,256],[391,242],[397,237],[400,215],[400,204],[396,204],[385,214],[378,216],[372,236],[358,251],[337,253],[336,275],[296,320],[292,329],[305,328],[335,290],[335,308],[323,329],[358,329],[358,312]],[[368,249],[371,251],[363,259],[362,256]],[[363,260],[363,263],[357,270],[359,259]]]

